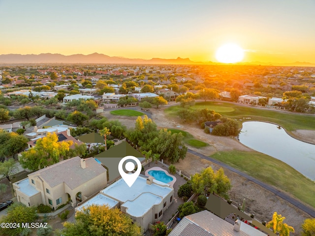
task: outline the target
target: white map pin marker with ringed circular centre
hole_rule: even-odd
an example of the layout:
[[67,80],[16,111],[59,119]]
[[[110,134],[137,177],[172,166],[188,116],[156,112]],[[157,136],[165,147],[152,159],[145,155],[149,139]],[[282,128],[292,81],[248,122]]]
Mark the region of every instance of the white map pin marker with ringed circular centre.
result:
[[[137,163],[137,170],[134,173],[128,174],[124,171],[123,169],[123,164],[126,160],[133,160]],[[129,172],[131,172],[133,169],[135,168],[134,163],[133,162],[127,162],[125,169]],[[122,178],[124,179],[124,181],[126,182],[126,184],[131,187],[132,184],[136,181],[136,179],[138,178],[140,172],[141,172],[141,162],[139,161],[138,158],[134,157],[134,156],[126,156],[124,157],[118,164],[118,171],[120,173],[120,175],[122,176]]]

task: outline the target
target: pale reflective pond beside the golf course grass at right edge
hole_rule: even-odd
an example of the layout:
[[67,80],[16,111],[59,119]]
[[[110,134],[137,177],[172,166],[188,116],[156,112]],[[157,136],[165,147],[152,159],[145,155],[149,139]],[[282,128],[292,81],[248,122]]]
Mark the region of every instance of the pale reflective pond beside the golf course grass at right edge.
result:
[[258,121],[244,122],[239,140],[315,180],[315,145],[291,137],[280,126]]

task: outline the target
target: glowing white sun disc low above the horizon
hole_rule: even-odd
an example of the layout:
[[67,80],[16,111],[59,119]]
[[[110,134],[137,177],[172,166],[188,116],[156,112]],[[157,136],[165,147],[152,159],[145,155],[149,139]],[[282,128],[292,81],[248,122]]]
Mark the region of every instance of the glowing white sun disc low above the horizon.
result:
[[216,52],[216,59],[221,63],[241,62],[243,58],[244,50],[233,43],[222,45]]

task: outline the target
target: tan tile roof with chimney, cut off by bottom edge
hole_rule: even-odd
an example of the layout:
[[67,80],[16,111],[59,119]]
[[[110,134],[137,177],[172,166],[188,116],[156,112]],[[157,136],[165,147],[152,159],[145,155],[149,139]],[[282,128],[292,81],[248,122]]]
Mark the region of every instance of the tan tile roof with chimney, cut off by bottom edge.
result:
[[169,236],[267,236],[267,234],[236,220],[234,225],[208,210],[185,216]]

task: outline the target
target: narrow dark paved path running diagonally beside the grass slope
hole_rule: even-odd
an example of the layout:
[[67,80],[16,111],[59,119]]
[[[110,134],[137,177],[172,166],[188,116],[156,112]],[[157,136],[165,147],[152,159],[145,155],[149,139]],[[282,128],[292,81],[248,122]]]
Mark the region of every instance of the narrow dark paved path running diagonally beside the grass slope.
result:
[[248,174],[246,174],[246,173],[244,173],[244,172],[242,172],[242,171],[240,171],[238,169],[234,169],[234,168],[232,168],[232,167],[230,167],[230,166],[228,166],[228,165],[226,165],[226,164],[224,164],[224,163],[222,163],[222,162],[220,162],[218,160],[215,160],[215,159],[213,159],[211,157],[207,157],[207,156],[205,156],[203,154],[200,154],[200,153],[195,152],[195,151],[190,150],[190,149],[188,149],[188,152],[193,154],[193,155],[196,155],[196,156],[198,156],[198,157],[200,157],[202,159],[206,159],[206,160],[208,160],[210,162],[213,162],[213,163],[215,163],[217,165],[220,165],[221,167],[229,169],[229,170],[231,170],[231,171],[233,171],[233,172],[235,172],[235,173],[237,173],[237,174],[247,178],[248,180],[252,181],[253,183],[258,184],[261,187],[269,190],[270,192],[274,193],[275,195],[279,196],[280,198],[284,199],[285,201],[290,202],[292,205],[295,205],[299,209],[303,210],[304,212],[308,213],[309,215],[311,215],[312,217],[315,218],[315,210],[313,208],[304,205],[303,203],[297,201],[296,199],[288,196],[284,192],[281,192],[281,191],[273,188],[272,186],[270,186],[268,184],[265,184],[265,183],[255,179],[255,178],[249,176]]

